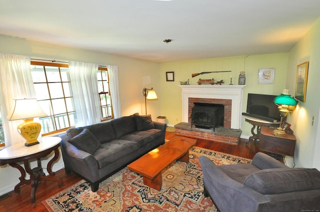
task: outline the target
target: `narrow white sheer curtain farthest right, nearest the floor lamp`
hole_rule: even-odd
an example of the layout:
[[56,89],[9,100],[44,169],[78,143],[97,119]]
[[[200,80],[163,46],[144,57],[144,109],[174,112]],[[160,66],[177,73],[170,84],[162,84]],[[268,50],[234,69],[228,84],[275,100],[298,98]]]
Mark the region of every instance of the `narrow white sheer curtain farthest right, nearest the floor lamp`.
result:
[[119,95],[119,79],[118,79],[118,67],[114,65],[107,65],[109,75],[109,87],[112,99],[112,109],[114,118],[121,116],[121,105]]

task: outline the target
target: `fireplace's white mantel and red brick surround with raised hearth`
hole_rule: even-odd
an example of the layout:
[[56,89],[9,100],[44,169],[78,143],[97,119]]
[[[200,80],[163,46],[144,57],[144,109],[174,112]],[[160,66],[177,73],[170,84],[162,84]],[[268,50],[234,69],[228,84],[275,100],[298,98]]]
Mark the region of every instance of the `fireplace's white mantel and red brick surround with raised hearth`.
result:
[[[182,122],[175,133],[193,138],[237,144],[241,135],[242,89],[245,85],[179,85],[182,89]],[[193,102],[224,105],[223,127],[191,128]]]

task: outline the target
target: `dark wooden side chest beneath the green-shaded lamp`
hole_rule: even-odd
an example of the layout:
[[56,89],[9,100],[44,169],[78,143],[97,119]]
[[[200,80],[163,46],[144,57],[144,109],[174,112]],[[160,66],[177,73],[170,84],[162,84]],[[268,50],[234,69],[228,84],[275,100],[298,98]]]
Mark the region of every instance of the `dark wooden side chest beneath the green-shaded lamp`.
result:
[[273,128],[261,127],[260,150],[279,155],[293,157],[295,149],[295,136],[293,134],[273,135]]

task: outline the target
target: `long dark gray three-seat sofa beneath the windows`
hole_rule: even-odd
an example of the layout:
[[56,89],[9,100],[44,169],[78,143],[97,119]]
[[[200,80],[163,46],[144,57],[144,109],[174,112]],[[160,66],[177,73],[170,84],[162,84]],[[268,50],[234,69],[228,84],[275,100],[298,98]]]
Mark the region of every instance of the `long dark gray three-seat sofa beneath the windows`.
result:
[[76,173],[95,192],[100,182],[163,144],[165,128],[166,124],[138,114],[70,128],[59,135],[65,172]]

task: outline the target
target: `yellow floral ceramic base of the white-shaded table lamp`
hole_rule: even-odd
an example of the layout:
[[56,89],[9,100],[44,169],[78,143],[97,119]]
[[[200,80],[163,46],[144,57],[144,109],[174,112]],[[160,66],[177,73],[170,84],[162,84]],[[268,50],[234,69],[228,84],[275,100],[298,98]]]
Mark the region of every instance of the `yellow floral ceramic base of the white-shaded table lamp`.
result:
[[37,122],[33,122],[33,118],[24,119],[24,122],[17,127],[20,135],[26,140],[25,146],[32,146],[38,144],[38,136],[41,132],[41,125]]

